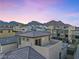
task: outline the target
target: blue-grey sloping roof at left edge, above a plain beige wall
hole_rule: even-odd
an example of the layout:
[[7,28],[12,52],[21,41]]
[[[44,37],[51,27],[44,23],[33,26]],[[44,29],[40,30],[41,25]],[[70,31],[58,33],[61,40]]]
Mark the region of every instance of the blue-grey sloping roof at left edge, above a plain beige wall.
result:
[[6,44],[16,43],[16,42],[17,42],[16,36],[7,37],[7,38],[0,38],[1,45],[6,45]]

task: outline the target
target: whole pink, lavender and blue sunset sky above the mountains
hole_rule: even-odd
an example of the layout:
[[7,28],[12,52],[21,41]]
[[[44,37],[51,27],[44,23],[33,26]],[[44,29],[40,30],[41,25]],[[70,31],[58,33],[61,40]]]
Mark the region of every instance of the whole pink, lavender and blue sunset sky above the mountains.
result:
[[79,26],[79,0],[0,0],[0,20],[21,23],[56,20]]

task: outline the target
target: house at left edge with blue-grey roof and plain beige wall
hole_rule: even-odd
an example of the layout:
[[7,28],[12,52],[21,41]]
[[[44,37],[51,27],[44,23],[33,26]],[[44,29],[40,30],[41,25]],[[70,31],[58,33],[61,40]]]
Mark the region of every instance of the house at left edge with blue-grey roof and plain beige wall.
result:
[[0,38],[0,53],[5,53],[17,48],[16,36]]

